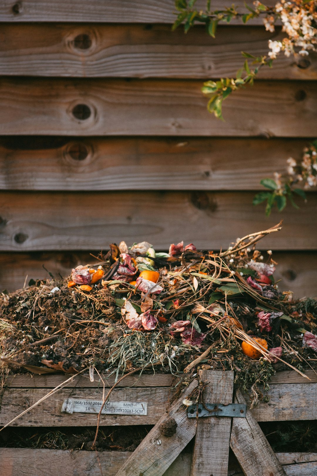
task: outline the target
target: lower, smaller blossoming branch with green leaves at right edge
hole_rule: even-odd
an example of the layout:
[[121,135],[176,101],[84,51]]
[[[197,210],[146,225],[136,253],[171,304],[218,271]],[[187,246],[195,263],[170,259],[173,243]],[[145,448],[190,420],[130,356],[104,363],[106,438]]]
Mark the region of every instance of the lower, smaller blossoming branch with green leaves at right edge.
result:
[[297,188],[299,183],[304,184],[304,189],[316,187],[317,185],[317,140],[309,147],[304,149],[303,159],[300,163],[290,157],[287,159],[287,173],[281,175],[274,173],[274,178],[263,178],[260,184],[268,188],[269,191],[259,192],[253,198],[253,205],[259,205],[266,201],[265,214],[270,215],[272,207],[277,206],[282,211],[287,204],[287,199],[293,207],[298,208],[294,201],[294,197],[298,195],[306,200],[306,194],[303,188]]

